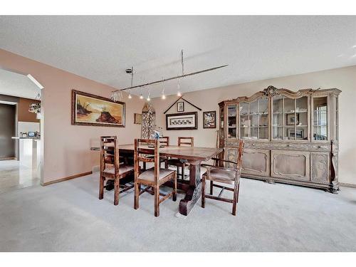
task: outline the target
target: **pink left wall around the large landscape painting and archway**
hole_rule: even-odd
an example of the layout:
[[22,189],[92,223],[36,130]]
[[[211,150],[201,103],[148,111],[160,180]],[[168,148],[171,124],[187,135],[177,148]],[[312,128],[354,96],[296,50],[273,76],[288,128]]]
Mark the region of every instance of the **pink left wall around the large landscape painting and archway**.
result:
[[1,49],[0,66],[30,73],[44,86],[43,182],[90,172],[99,164],[98,152],[90,152],[90,146],[98,145],[100,135],[117,135],[120,144],[132,143],[134,138],[140,137],[141,125],[133,123],[134,113],[140,113],[143,107],[139,98],[123,100],[126,103],[125,128],[71,125],[72,89],[109,98],[115,88]]

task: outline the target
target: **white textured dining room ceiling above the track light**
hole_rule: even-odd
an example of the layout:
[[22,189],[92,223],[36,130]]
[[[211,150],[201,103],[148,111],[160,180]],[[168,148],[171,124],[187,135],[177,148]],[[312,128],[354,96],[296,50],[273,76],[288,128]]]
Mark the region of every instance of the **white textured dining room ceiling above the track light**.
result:
[[0,48],[115,88],[180,74],[181,49],[185,73],[229,64],[187,92],[356,65],[356,16],[0,16]]

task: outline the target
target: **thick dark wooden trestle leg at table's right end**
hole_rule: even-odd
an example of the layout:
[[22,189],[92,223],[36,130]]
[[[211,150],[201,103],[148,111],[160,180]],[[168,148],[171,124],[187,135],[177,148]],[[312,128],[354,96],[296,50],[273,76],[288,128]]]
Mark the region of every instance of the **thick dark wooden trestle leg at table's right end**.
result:
[[179,213],[187,216],[201,197],[200,162],[189,162],[189,189],[179,202]]

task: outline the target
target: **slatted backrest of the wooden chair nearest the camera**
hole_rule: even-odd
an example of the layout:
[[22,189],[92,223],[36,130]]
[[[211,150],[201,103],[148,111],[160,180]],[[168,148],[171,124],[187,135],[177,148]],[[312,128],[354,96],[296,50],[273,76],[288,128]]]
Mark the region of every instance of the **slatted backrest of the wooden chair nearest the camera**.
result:
[[[155,155],[155,157],[145,157]],[[135,139],[135,179],[140,175],[140,162],[154,162],[155,183],[159,177],[159,141],[152,139]]]

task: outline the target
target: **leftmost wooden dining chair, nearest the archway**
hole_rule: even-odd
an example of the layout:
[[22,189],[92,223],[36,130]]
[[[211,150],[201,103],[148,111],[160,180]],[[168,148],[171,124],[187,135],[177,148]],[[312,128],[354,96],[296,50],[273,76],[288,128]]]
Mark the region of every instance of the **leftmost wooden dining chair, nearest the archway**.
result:
[[[119,204],[119,195],[134,185],[122,184],[120,179],[135,173],[135,167],[125,164],[125,160],[120,162],[122,157],[119,156],[119,145],[117,145],[116,136],[100,137],[100,182],[99,182],[99,199],[104,197],[105,179],[114,180],[114,205]],[[120,187],[122,190],[120,191]]]

